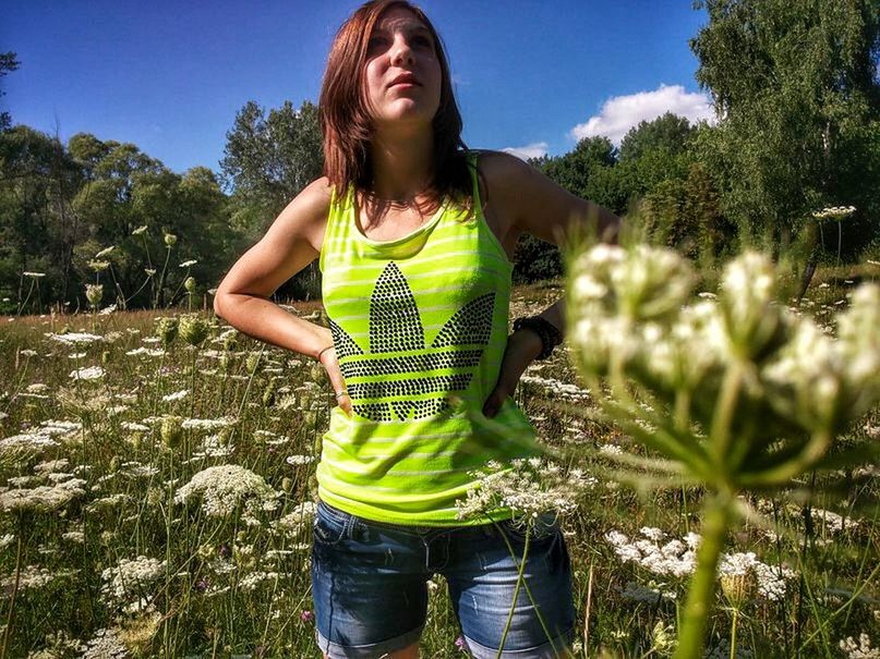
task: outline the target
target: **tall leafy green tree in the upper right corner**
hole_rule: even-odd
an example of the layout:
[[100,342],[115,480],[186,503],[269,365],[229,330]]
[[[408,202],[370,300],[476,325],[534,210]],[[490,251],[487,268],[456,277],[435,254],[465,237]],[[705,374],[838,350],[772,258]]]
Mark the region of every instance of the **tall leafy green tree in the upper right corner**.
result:
[[856,206],[856,222],[867,222],[880,196],[880,182],[865,173],[877,158],[873,143],[863,138],[880,118],[880,5],[701,0],[697,7],[709,14],[691,40],[697,80],[720,119],[700,138],[700,160],[719,181],[723,210],[740,235],[784,246],[824,206]]

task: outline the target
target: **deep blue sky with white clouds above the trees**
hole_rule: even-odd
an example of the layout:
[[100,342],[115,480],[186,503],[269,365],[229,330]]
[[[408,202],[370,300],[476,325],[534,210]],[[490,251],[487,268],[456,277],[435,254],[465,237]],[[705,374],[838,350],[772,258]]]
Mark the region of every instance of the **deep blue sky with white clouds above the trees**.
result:
[[[0,51],[13,122],[132,142],[174,171],[219,159],[236,112],[317,101],[327,51],[360,2],[12,0]],[[691,0],[424,0],[449,53],[465,139],[521,156],[618,142],[666,110],[711,117]]]

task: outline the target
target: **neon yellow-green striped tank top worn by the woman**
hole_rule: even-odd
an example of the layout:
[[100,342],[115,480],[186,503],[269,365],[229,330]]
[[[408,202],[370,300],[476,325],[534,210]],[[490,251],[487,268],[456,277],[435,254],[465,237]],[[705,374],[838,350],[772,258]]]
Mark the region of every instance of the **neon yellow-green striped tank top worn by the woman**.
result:
[[532,454],[523,447],[534,430],[509,398],[492,430],[473,420],[498,378],[513,272],[480,210],[474,160],[470,217],[447,199],[394,241],[364,236],[353,190],[334,191],[318,263],[353,413],[331,411],[317,481],[339,510],[396,524],[485,523],[457,517],[456,500],[479,487],[472,472]]

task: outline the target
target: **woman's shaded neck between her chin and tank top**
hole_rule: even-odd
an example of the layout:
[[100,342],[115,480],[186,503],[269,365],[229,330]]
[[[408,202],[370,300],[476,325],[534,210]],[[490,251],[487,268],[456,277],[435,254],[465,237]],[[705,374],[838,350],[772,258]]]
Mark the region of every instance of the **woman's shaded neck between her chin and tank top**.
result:
[[376,135],[371,147],[373,194],[388,202],[412,203],[434,179],[434,135]]

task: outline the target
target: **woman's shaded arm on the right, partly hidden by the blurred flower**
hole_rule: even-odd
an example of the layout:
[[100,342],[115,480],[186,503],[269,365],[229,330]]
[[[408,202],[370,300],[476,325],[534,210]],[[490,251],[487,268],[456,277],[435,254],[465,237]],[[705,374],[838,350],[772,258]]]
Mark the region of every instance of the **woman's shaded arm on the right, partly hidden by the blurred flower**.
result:
[[[509,252],[523,232],[557,246],[591,232],[602,241],[617,241],[620,218],[559,187],[519,158],[490,151],[481,155],[479,167],[485,185],[486,219]],[[540,316],[563,332],[565,301],[557,301]],[[486,416],[497,413],[541,349],[541,338],[534,331],[523,329],[508,338],[498,383],[483,406]]]

